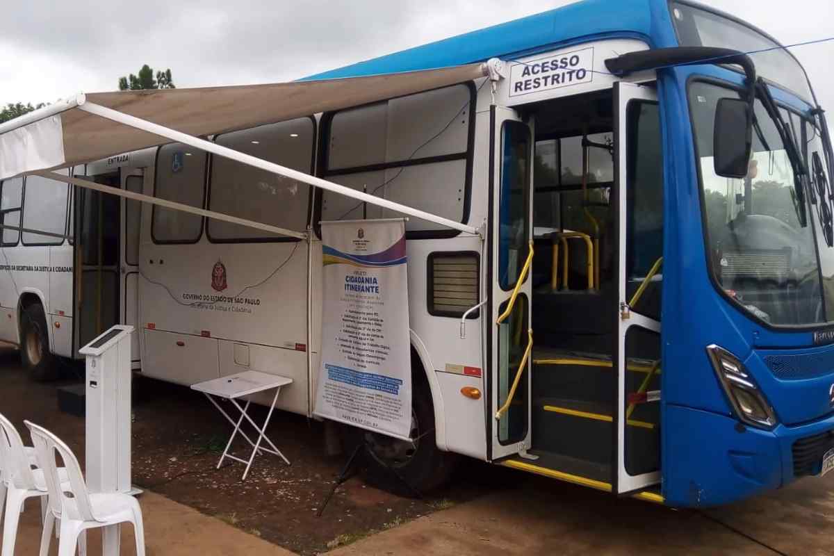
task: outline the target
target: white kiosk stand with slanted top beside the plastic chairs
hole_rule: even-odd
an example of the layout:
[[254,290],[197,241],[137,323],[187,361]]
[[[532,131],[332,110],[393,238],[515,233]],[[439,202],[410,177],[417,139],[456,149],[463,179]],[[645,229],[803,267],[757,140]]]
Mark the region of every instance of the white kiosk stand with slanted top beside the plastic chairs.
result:
[[[87,486],[93,493],[130,493],[130,334],[118,325],[78,350],[87,356]],[[103,529],[104,556],[117,556],[119,525]]]

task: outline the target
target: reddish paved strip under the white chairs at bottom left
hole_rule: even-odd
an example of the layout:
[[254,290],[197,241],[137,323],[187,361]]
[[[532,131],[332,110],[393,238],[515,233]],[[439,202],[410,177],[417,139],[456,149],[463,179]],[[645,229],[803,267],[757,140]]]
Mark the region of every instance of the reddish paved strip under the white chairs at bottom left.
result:
[[[145,548],[148,556],[293,556],[275,544],[244,532],[154,493],[139,498],[145,524]],[[34,556],[41,538],[40,506],[30,502],[18,530],[16,556]],[[134,554],[133,527],[122,526],[122,554]],[[53,539],[50,554],[58,553]],[[88,533],[89,556],[100,556],[101,534]]]

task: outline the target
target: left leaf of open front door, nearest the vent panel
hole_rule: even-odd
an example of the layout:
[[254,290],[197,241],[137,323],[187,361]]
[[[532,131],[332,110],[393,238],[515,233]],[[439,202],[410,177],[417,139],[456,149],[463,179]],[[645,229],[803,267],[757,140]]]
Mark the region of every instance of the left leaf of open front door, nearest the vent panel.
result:
[[510,108],[492,107],[490,145],[490,459],[530,448],[533,133]]

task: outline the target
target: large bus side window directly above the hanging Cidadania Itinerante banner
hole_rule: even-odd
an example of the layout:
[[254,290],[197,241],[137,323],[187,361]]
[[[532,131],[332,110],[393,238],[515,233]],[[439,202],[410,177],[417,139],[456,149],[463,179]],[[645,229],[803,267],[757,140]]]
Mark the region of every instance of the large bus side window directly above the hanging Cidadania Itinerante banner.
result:
[[[474,101],[469,85],[455,85],[335,113],[327,132],[324,178],[464,222]],[[324,220],[396,216],[324,192]],[[417,218],[405,228],[445,229]]]

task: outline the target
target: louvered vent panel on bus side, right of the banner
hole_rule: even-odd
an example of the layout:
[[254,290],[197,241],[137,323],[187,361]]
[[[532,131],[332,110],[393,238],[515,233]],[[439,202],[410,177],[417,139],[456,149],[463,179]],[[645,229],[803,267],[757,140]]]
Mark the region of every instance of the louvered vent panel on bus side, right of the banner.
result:
[[478,304],[477,255],[433,253],[430,261],[432,313],[460,317]]

